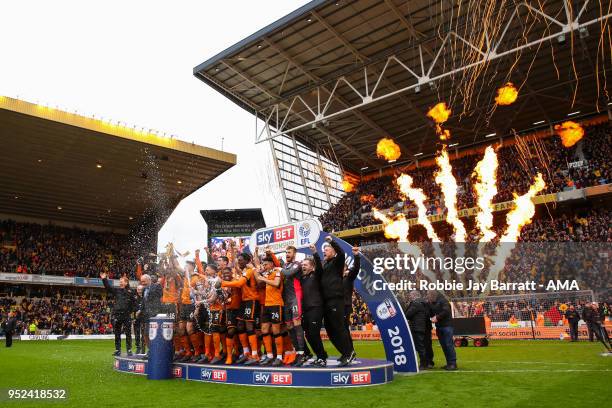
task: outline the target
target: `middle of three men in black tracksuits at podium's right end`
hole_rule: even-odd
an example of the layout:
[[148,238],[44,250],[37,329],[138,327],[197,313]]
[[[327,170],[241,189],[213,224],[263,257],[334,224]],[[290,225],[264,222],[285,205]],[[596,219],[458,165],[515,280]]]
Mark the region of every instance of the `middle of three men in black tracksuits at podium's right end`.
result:
[[321,293],[323,294],[323,317],[325,330],[330,341],[340,352],[338,365],[344,367],[355,358],[350,333],[344,325],[344,275],[345,254],[331,235],[325,237],[329,245],[324,248],[325,261],[321,273]]

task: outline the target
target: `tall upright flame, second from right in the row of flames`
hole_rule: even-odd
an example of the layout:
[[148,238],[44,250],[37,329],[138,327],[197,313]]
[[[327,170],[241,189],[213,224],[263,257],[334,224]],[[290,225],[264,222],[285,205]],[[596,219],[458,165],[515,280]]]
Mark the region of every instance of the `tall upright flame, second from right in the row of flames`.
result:
[[485,150],[485,155],[474,168],[473,176],[476,178],[474,190],[478,197],[478,214],[476,225],[482,233],[480,242],[490,242],[495,238],[493,226],[493,198],[497,194],[497,155],[493,147]]

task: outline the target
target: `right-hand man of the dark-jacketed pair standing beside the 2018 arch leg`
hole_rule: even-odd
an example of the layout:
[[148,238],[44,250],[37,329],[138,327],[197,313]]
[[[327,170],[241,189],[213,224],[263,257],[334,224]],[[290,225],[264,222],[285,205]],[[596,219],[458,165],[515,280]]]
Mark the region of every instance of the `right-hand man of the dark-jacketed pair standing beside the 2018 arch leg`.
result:
[[457,354],[453,340],[453,326],[451,325],[452,311],[450,303],[443,294],[431,290],[427,293],[431,308],[431,321],[436,324],[436,335],[446,357],[446,365],[442,368],[448,371],[457,369]]

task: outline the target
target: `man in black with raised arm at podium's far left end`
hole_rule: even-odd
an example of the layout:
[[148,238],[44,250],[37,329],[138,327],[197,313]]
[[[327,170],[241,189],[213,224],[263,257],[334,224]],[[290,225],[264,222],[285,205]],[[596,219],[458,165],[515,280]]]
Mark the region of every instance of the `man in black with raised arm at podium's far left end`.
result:
[[119,279],[119,287],[114,288],[107,279],[106,273],[101,273],[102,283],[115,298],[115,305],[111,313],[113,332],[115,333],[115,352],[114,356],[121,355],[121,332],[125,329],[125,348],[127,355],[132,355],[132,310],[134,309],[134,294],[130,289],[130,281],[126,276]]

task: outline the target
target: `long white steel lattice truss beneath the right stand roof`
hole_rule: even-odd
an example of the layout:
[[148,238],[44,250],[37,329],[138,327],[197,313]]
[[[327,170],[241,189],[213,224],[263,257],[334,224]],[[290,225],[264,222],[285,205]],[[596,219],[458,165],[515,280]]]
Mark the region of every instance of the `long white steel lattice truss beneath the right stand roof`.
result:
[[[603,21],[607,21],[610,17],[612,17],[612,13],[601,15],[599,17],[593,18],[588,21],[582,21],[581,18],[587,9],[589,4],[589,0],[585,0],[582,3],[577,14],[572,12],[572,6],[568,4],[568,0],[563,0],[563,9],[565,11],[565,21],[559,20],[554,15],[549,15],[545,11],[537,9],[527,2],[521,2],[514,6],[514,11],[507,19],[504,24],[504,28],[501,31],[500,37],[493,42],[490,38],[489,33],[486,30],[486,27],[483,26],[483,36],[485,38],[484,41],[484,49],[477,44],[474,44],[469,39],[464,38],[458,32],[451,30],[449,31],[444,40],[442,41],[439,48],[434,53],[434,58],[431,63],[426,67],[425,60],[423,59],[423,46],[418,45],[418,55],[420,62],[420,72],[419,69],[410,68],[404,61],[402,61],[398,55],[393,54],[387,57],[386,62],[384,64],[384,68],[380,73],[378,73],[375,81],[375,85],[370,89],[369,80],[368,80],[368,65],[364,65],[362,69],[361,78],[364,78],[363,84],[357,82],[355,80],[349,80],[347,77],[342,76],[338,78],[331,91],[326,88],[324,85],[319,85],[314,92],[316,92],[316,104],[308,103],[302,96],[297,95],[293,98],[286,101],[279,101],[275,104],[266,107],[263,110],[256,112],[256,124],[255,124],[255,142],[261,143],[265,142],[269,139],[274,139],[281,135],[291,135],[293,132],[299,131],[305,128],[314,128],[317,127],[321,131],[324,131],[324,123],[329,120],[339,117],[343,114],[349,112],[358,112],[360,109],[365,108],[368,105],[373,103],[382,101],[384,99],[390,98],[395,95],[399,95],[401,93],[421,89],[426,84],[436,83],[442,79],[450,77],[452,75],[461,73],[462,71],[487,64],[491,61],[497,60],[499,58],[509,56],[512,54],[516,54],[521,50],[536,47],[546,41],[551,41],[554,39],[565,38],[566,35],[572,34],[574,32],[583,33],[587,27],[601,23]],[[540,33],[539,38],[529,41],[525,44],[516,45],[510,47],[508,49],[501,49],[500,47],[504,44],[504,40],[506,34],[509,31],[509,28],[515,22],[515,20],[520,19],[520,12],[525,10],[527,13],[537,15],[542,17],[546,22],[549,22],[552,27],[556,27],[557,30],[551,29],[549,25],[544,25],[542,27],[542,31]],[[605,11],[604,11],[605,12]],[[470,49],[472,49],[475,53],[480,54],[480,59],[477,61],[462,61],[460,66],[446,69],[446,67],[442,67],[442,72],[438,75],[433,75],[434,68],[438,67],[438,61],[440,60],[440,56],[448,47],[456,47],[457,43],[461,43]],[[392,87],[391,90],[385,92],[381,89],[380,84],[385,78],[385,72],[390,65],[396,64],[403,68],[409,76],[412,77],[412,83],[403,87]],[[438,67],[439,68],[439,67]],[[373,67],[370,67],[370,74],[372,74]],[[356,99],[356,103],[348,103],[344,98],[340,101],[340,105],[342,105],[341,109],[337,109],[331,111],[332,102],[337,101],[338,98],[341,98],[337,94],[337,90],[341,86],[347,86],[351,89],[358,98]],[[363,89],[364,93],[359,92],[358,89]],[[379,90],[380,89],[380,90]],[[328,94],[328,97],[321,98],[322,94]],[[278,95],[277,95],[278,96]],[[301,109],[297,109],[300,107]],[[263,126],[261,129],[258,126],[258,119],[263,120]],[[299,124],[296,124],[298,122]],[[293,126],[289,124],[293,123]]]

